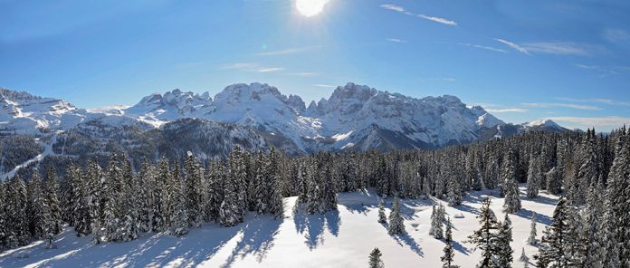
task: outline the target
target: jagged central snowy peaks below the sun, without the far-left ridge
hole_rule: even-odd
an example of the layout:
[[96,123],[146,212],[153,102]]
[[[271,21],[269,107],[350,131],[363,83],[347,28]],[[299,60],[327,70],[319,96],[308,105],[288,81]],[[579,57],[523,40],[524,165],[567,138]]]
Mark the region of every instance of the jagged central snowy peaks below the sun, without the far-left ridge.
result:
[[[504,124],[481,107],[453,96],[415,99],[348,83],[305,108],[298,96],[267,84],[235,84],[215,96],[172,91],[153,94],[124,110],[154,124],[182,117],[236,123],[280,137],[302,152],[372,148],[436,148],[469,143],[483,129]],[[164,101],[172,96],[170,101]],[[396,142],[386,141],[393,140]],[[360,146],[358,146],[360,144]],[[291,146],[289,146],[291,147]]]

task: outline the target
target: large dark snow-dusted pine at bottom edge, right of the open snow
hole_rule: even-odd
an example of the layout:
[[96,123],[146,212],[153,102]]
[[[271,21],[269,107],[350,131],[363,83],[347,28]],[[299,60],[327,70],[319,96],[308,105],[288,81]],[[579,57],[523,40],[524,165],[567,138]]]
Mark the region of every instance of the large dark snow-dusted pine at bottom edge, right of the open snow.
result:
[[534,255],[538,267],[569,267],[567,253],[568,241],[568,204],[567,199],[560,197],[553,212],[551,225],[543,231],[539,254]]

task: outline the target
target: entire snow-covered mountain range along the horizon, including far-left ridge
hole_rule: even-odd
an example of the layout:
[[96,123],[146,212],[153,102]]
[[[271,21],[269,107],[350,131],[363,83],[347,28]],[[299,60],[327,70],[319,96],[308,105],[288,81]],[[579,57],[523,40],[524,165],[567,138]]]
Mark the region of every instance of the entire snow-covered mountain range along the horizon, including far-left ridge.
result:
[[[264,139],[295,154],[440,148],[528,129],[565,130],[550,120],[506,124],[482,107],[467,107],[450,95],[416,99],[351,82],[339,86],[329,99],[310,102],[308,108],[300,96],[283,95],[262,83],[234,84],[214,98],[208,92],[154,93],[131,107],[99,110],[79,109],[67,101],[6,89],[0,89],[0,101],[0,133],[5,135],[42,136],[94,125],[144,131],[192,118],[198,119],[194,122],[210,120],[253,129],[260,136],[253,139]],[[213,128],[224,126],[215,124]],[[504,131],[506,128],[510,131]]]

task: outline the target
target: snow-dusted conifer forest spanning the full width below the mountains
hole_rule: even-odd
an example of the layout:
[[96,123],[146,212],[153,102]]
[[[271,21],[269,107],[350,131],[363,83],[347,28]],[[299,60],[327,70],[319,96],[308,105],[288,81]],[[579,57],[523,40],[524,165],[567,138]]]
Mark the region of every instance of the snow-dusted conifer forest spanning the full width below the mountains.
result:
[[[286,196],[298,196],[297,211],[326,213],[337,208],[337,193],[367,187],[376,188],[379,196],[434,196],[449,206],[461,205],[467,192],[494,189],[505,197],[504,212],[513,214],[520,211],[519,184],[526,184],[525,198],[535,198],[542,190],[563,196],[568,216],[558,219],[564,223],[558,225],[580,234],[571,235],[580,239],[573,244],[605,248],[601,255],[613,261],[602,267],[611,267],[607,265],[611,262],[628,267],[629,135],[625,128],[609,135],[596,135],[595,129],[586,133],[532,131],[436,150],[320,152],[293,158],[274,149],[265,153],[235,148],[224,160],[200,161],[188,154],[183,163],[162,158],[157,163],[143,161],[138,170],[124,154],[114,154],[104,168],[98,159],[91,159],[85,167],[70,164],[62,177],[50,168],[45,179],[39,178],[38,171],[26,182],[16,176],[3,183],[0,221],[5,224],[0,225],[4,228],[0,244],[14,247],[30,239],[54,237],[62,223],[74,227],[78,235],[92,235],[96,243],[129,241],[144,232],[185,235],[205,222],[238,225],[248,211],[280,218]],[[435,222],[432,230],[437,235],[442,231],[437,223],[444,219]],[[501,225],[496,217],[494,222],[486,233],[511,229],[508,218]],[[571,256],[549,257],[558,252],[558,246],[549,242],[552,235],[544,237],[539,267],[556,265],[560,259],[604,262],[591,260],[597,254],[582,254],[585,260],[578,260],[578,254],[564,249],[560,254]],[[490,253],[489,258],[496,260],[496,254]],[[482,267],[500,267],[494,261],[487,265]]]

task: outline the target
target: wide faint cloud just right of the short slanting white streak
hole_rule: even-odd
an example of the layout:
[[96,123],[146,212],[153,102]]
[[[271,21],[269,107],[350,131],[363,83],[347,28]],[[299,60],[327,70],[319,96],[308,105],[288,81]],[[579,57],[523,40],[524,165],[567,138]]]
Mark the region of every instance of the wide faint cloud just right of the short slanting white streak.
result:
[[569,42],[548,42],[548,43],[525,43],[522,45],[530,53],[546,53],[558,55],[578,55],[590,56],[595,53],[604,53],[606,49],[586,43]]

